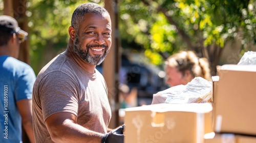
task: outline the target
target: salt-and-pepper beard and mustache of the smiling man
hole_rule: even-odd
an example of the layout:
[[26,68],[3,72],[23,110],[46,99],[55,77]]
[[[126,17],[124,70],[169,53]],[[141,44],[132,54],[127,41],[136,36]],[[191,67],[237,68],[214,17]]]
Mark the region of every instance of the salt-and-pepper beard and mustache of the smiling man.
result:
[[[104,47],[105,48],[104,54],[102,55],[102,57],[100,57],[100,55],[94,55],[95,57],[92,57],[92,55],[90,55],[89,53],[90,47]],[[82,58],[84,61],[88,62],[89,64],[92,64],[92,65],[101,64],[102,61],[105,59],[106,55],[109,53],[107,49],[108,49],[108,46],[106,45],[88,44],[86,45],[86,49],[83,50],[78,40],[78,35],[76,34],[75,36],[73,50],[80,58]]]

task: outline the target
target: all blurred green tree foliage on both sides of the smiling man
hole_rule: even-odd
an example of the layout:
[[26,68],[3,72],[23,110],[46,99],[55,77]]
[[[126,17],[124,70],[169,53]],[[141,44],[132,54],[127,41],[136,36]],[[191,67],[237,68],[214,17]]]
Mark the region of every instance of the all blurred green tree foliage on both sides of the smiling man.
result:
[[[27,1],[31,64],[36,73],[66,49],[74,9],[86,2],[104,4],[100,0]],[[242,54],[256,42],[252,0],[125,0],[118,5],[122,47],[142,49],[156,65],[179,50],[194,50],[215,68],[227,41],[241,41]]]

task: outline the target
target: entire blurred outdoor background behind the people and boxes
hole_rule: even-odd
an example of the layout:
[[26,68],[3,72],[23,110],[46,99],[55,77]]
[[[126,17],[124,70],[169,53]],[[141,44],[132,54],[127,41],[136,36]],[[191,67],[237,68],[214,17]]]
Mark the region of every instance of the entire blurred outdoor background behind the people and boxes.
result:
[[[13,16],[29,33],[19,59],[36,75],[66,50],[74,9],[86,2],[105,7],[112,18],[112,50],[97,66],[109,88],[111,126],[119,109],[151,104],[167,89],[163,63],[180,50],[193,50],[216,66],[237,64],[256,51],[256,2],[243,0],[0,0],[0,14]],[[123,113],[121,113],[123,114]]]

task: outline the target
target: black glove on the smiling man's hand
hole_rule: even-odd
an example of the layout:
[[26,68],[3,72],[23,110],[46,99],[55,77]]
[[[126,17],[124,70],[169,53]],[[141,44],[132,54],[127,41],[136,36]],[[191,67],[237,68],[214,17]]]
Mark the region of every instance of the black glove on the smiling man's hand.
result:
[[111,130],[108,133],[105,133],[105,135],[101,139],[101,143],[123,143],[124,127],[125,127],[125,125],[122,125],[116,129]]

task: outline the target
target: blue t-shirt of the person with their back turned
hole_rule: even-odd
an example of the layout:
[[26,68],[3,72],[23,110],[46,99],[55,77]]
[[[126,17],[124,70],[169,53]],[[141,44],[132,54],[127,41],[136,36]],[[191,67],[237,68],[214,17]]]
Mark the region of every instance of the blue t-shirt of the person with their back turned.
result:
[[0,56],[0,142],[22,142],[16,102],[32,98],[34,70],[13,57]]

